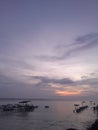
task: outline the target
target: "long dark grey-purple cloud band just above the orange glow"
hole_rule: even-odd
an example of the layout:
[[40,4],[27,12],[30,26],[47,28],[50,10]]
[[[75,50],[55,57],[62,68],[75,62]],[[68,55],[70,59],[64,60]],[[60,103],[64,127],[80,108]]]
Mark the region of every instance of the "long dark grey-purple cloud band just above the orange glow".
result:
[[90,76],[91,73],[88,76],[81,76],[80,80],[72,80],[70,78],[62,78],[62,79],[56,79],[56,78],[48,78],[45,76],[26,76],[28,80],[39,80],[38,82],[39,86],[41,84],[59,84],[59,85],[65,85],[66,86],[79,86],[79,85],[89,85],[89,86],[97,86],[98,85],[98,77],[92,77]]

